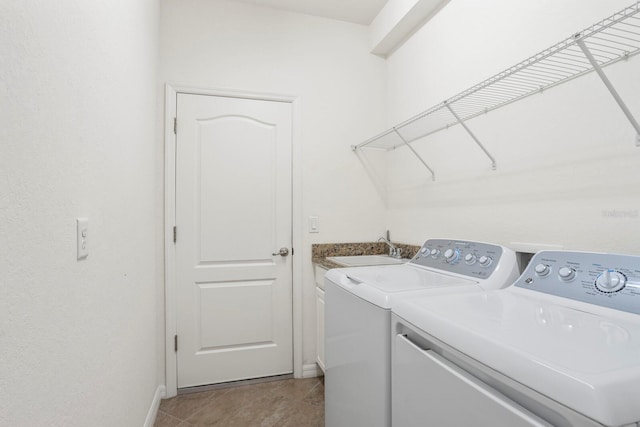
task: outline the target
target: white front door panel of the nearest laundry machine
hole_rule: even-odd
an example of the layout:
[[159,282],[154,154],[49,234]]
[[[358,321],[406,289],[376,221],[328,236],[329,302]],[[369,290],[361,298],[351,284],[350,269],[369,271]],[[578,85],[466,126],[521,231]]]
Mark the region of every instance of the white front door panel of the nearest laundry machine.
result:
[[392,373],[394,427],[550,427],[438,354],[396,335]]

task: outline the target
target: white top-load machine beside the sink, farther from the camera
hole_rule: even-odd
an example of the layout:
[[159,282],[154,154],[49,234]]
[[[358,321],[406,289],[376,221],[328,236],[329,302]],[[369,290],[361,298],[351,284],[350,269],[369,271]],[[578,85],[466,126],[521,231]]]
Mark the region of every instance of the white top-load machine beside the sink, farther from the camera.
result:
[[325,424],[391,425],[391,308],[419,295],[500,288],[518,274],[502,246],[430,239],[408,263],[325,276]]

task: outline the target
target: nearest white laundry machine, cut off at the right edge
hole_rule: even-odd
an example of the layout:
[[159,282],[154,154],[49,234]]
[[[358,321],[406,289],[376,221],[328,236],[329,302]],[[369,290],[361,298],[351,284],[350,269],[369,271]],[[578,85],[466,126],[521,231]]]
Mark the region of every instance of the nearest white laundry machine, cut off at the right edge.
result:
[[640,426],[640,257],[545,251],[513,286],[399,303],[393,426]]

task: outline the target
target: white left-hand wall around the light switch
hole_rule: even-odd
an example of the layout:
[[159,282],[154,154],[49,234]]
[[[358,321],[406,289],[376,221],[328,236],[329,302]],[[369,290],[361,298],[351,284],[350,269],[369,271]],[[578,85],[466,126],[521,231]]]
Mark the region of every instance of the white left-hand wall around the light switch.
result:
[[0,3],[0,425],[145,421],[157,22],[155,0]]

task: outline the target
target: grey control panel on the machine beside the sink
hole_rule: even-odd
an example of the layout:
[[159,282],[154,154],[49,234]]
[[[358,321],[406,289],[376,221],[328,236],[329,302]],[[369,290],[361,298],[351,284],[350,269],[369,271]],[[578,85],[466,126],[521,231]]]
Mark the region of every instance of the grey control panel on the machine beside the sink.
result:
[[490,243],[430,239],[424,242],[413,264],[487,279],[495,271],[502,247]]

